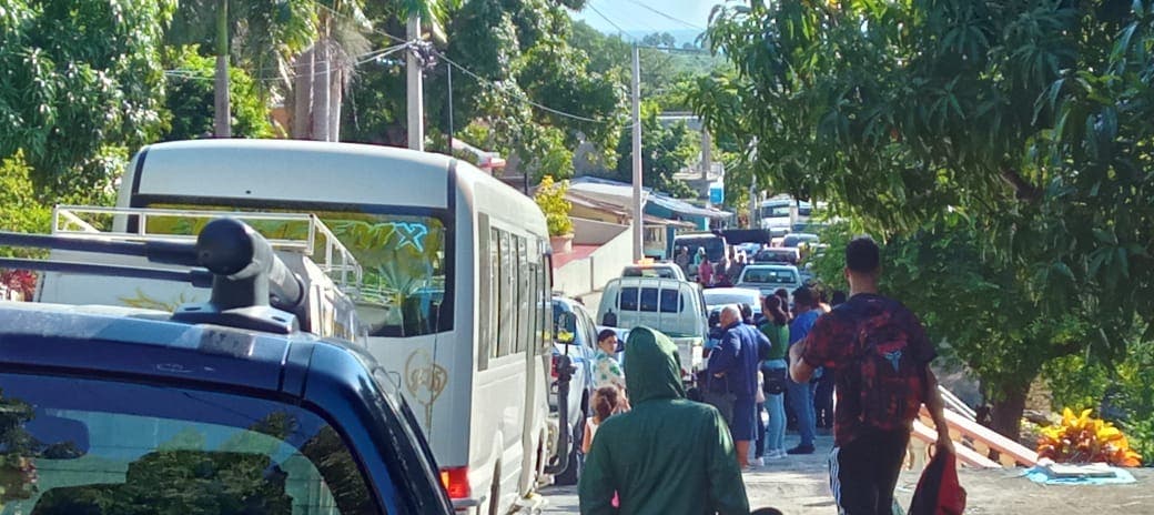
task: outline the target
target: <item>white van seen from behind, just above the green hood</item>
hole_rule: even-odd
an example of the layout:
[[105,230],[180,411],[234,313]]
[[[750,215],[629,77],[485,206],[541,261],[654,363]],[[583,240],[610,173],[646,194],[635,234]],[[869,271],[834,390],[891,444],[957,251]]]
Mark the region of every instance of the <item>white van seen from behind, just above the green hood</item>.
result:
[[619,277],[605,285],[597,321],[631,329],[646,326],[677,344],[682,376],[702,366],[702,345],[709,335],[702,286],[665,277]]

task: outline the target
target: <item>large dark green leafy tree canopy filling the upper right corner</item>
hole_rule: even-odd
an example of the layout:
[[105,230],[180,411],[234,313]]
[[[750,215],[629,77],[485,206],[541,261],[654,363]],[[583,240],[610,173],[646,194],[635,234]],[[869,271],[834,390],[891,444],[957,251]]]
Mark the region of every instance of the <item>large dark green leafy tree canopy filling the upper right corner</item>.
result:
[[[698,88],[695,111],[756,139],[760,186],[885,236],[964,215],[967,253],[1013,289],[979,277],[1033,311],[975,320],[999,342],[1114,363],[1154,339],[1132,337],[1154,320],[1148,2],[755,1],[721,8],[709,39],[736,76]],[[928,304],[969,294],[945,291]],[[999,375],[1044,356],[1012,353],[990,352]]]

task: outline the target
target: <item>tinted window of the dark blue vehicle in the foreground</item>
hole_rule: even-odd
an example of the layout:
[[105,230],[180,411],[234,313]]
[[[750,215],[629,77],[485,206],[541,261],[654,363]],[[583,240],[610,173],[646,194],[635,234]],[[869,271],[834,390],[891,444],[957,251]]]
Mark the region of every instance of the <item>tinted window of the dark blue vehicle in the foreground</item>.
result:
[[200,390],[0,374],[3,514],[383,513],[321,417]]

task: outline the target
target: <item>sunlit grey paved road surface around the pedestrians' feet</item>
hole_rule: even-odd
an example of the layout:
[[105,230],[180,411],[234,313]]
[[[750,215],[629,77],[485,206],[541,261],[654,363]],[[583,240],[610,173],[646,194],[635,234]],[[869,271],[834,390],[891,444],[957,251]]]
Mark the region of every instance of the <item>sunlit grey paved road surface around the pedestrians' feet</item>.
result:
[[[792,446],[796,436],[786,436]],[[772,506],[786,515],[833,515],[826,476],[832,438],[818,436],[817,453],[769,462],[744,475],[750,506]],[[1131,470],[1138,483],[1116,486],[1044,486],[1021,477],[1021,470],[962,469],[968,491],[967,515],[1154,515],[1154,469]],[[904,471],[897,497],[909,506],[917,472]],[[542,492],[546,514],[578,513],[577,487],[552,486]]]

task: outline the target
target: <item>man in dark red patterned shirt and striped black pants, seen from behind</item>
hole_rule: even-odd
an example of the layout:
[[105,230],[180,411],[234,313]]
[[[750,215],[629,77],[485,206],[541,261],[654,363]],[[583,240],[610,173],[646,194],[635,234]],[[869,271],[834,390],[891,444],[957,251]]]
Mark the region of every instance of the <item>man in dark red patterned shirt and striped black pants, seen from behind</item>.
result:
[[822,316],[789,349],[789,374],[807,382],[834,371],[834,448],[830,486],[841,515],[889,515],[909,432],[922,404],[937,426],[939,451],[953,453],[937,378],[937,356],[917,318],[878,294],[881,252],[868,237],[846,246],[849,299]]

